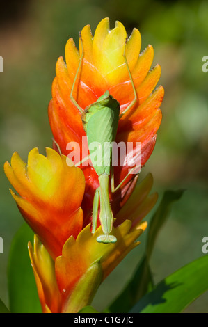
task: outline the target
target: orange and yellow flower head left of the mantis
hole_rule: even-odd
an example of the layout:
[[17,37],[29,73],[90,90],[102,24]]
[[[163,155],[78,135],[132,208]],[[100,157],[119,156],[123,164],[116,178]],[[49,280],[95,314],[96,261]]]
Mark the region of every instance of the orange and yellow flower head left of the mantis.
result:
[[15,152],[4,170],[19,211],[54,259],[63,244],[83,228],[81,201],[85,179],[81,169],[67,166],[66,157],[50,148],[47,157],[35,148],[25,163]]

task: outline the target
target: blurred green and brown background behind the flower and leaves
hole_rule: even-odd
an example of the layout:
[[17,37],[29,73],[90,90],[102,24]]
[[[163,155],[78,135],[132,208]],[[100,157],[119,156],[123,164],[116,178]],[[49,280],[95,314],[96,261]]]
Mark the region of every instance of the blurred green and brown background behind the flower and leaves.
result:
[[[152,172],[154,190],[161,198],[166,189],[186,189],[175,203],[157,240],[151,267],[158,282],[180,266],[204,255],[202,238],[208,236],[208,72],[202,57],[208,55],[208,2],[153,0],[31,0],[1,3],[0,55],[0,298],[8,303],[6,265],[10,242],[22,225],[3,173],[3,163],[18,151],[26,160],[29,150],[45,153],[51,146],[47,105],[58,56],[64,56],[70,37],[90,24],[92,32],[104,17],[137,27],[142,50],[154,47],[154,65],[162,68],[165,88],[163,120],[157,145],[142,175]],[[153,210],[154,212],[154,210]],[[149,219],[151,215],[147,218]],[[93,304],[101,310],[131,277],[145,246],[134,249],[100,287]],[[19,253],[21,255],[21,253]],[[208,312],[208,294],[186,312]]]

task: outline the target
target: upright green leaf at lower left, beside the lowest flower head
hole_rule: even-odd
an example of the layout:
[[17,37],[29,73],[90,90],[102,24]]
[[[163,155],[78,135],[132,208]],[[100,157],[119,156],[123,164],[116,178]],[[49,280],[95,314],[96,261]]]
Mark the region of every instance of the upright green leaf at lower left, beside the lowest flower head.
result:
[[27,244],[33,243],[33,232],[26,223],[18,230],[8,260],[8,293],[13,313],[41,312],[40,301],[29,259]]

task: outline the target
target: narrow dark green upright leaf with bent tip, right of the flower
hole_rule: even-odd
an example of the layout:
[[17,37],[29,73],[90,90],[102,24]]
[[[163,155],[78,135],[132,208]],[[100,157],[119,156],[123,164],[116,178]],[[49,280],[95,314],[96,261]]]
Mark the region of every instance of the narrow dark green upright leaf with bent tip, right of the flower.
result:
[[131,278],[125,289],[118,296],[118,298],[115,299],[110,307],[105,310],[105,312],[129,312],[132,306],[140,298],[142,298],[142,296],[153,289],[154,284],[149,264],[152,250],[154,248],[157,235],[159,234],[159,230],[161,230],[163,224],[170,214],[170,209],[173,202],[179,200],[183,192],[183,190],[178,190],[166,191],[164,193],[161,203],[150,221],[144,257],[138,264],[134,276]]

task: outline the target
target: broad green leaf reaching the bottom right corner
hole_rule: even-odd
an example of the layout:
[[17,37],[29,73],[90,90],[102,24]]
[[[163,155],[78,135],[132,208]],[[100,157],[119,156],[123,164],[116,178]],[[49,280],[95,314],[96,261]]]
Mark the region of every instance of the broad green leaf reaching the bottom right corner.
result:
[[146,294],[132,312],[179,313],[208,289],[208,255],[187,264]]

